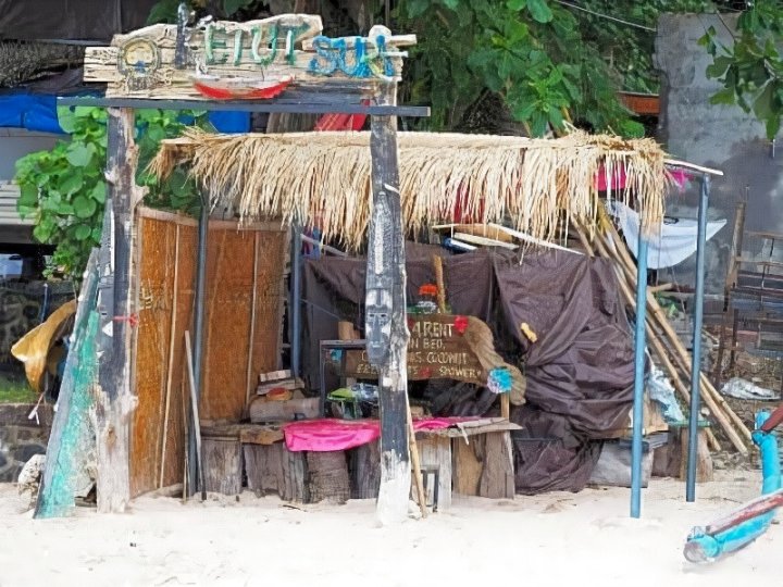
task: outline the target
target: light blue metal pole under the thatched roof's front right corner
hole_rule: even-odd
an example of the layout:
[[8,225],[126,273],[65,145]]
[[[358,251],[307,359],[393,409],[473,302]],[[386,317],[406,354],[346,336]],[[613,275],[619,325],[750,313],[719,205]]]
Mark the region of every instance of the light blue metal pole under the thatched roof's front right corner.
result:
[[647,239],[639,227],[636,254],[636,330],[634,342],[634,405],[631,441],[631,517],[642,515],[642,435],[644,423],[645,322],[647,314]]

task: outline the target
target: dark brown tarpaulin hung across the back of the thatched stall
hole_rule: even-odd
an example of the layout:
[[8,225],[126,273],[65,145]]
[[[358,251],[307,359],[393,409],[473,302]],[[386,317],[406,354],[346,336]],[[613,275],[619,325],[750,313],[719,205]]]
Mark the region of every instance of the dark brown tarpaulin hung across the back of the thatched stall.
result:
[[[408,243],[410,301],[421,285],[434,283],[434,253],[444,258],[452,311],[487,322],[507,360],[523,357],[527,403],[511,413],[524,427],[514,438],[518,490],[583,488],[600,439],[625,425],[633,403],[633,340],[609,262],[562,251],[527,252],[521,261],[506,251],[449,255],[439,247]],[[364,267],[360,258],[304,265],[303,358],[313,386],[319,340],[337,338],[338,319],[362,324]],[[536,333],[535,344],[520,330],[522,322]],[[442,404],[462,414],[492,410],[481,390],[473,399]]]

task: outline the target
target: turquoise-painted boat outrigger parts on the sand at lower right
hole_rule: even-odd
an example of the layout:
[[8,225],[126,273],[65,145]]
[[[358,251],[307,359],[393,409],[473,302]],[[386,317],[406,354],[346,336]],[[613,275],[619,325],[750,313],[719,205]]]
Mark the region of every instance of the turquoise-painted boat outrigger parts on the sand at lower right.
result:
[[[767,412],[757,414],[757,429],[753,433],[753,440],[761,452],[762,495],[772,494],[781,488],[778,439],[774,433],[758,429],[768,417]],[[707,534],[704,528],[694,528],[685,545],[685,555],[692,562],[709,562],[739,550],[767,532],[775,513],[776,510],[772,510],[714,535]]]

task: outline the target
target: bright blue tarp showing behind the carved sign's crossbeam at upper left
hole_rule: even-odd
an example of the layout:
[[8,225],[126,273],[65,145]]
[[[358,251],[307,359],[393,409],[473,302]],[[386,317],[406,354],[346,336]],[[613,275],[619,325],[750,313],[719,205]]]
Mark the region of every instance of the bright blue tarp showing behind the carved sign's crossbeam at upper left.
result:
[[[250,130],[248,112],[210,112],[209,120],[220,133]],[[0,127],[62,134],[57,117],[57,97],[26,91],[0,95]]]

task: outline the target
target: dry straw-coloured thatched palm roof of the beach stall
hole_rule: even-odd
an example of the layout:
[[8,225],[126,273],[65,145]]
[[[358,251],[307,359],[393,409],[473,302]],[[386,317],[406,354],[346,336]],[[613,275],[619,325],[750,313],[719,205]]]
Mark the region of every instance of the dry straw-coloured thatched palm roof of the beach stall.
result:
[[[646,226],[660,223],[669,176],[651,139],[623,140],[575,132],[558,139],[400,133],[400,192],[406,229],[449,221],[455,205],[484,222],[510,222],[554,240],[563,222],[592,222],[599,205],[596,174],[622,170],[625,189]],[[210,135],[166,140],[152,171],[181,164],[216,205],[243,218],[281,217],[309,224],[349,249],[361,246],[370,221],[369,133]]]

